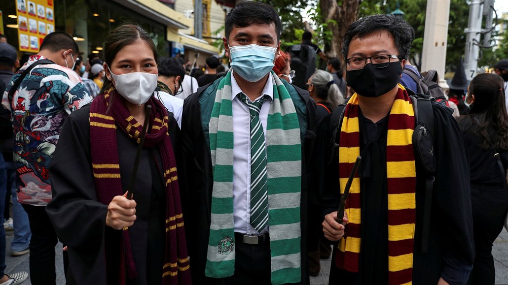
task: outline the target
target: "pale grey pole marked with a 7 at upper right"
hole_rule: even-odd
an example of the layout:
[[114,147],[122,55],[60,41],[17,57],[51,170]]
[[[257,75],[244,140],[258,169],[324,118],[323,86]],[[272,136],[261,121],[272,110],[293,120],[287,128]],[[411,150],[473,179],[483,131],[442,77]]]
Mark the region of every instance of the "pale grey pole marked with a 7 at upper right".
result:
[[464,71],[467,80],[471,80],[477,72],[478,55],[480,53],[480,36],[482,32],[483,1],[472,0],[469,5],[469,22],[466,33],[466,49],[464,53]]

